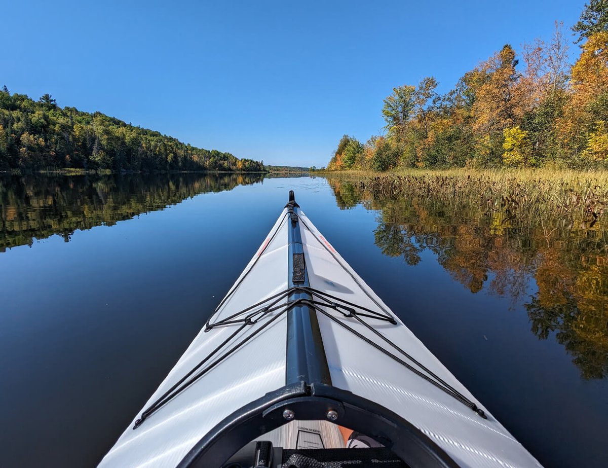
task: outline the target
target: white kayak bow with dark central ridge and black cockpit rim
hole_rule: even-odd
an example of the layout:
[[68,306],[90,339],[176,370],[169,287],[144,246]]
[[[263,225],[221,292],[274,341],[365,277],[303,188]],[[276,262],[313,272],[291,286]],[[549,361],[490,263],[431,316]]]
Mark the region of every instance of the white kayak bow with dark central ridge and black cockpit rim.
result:
[[99,466],[350,464],[541,466],[365,284],[291,191]]

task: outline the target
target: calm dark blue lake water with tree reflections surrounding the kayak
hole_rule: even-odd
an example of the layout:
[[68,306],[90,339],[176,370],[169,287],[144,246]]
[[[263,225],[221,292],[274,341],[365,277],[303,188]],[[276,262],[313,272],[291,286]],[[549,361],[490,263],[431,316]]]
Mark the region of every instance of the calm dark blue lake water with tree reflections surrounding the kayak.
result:
[[543,237],[320,177],[194,174],[0,176],[0,466],[95,466],[290,189],[544,466],[608,466],[608,262],[598,226]]

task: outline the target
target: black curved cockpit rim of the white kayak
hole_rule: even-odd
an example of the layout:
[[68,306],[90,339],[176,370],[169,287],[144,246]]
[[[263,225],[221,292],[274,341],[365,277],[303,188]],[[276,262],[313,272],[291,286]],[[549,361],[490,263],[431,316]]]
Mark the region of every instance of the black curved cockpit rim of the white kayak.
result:
[[336,424],[374,438],[407,466],[458,467],[420,429],[382,405],[331,385],[300,382],[268,393],[230,414],[190,449],[178,468],[222,466],[250,441],[288,424],[286,410],[293,418],[307,421],[327,420],[329,411],[335,411]]

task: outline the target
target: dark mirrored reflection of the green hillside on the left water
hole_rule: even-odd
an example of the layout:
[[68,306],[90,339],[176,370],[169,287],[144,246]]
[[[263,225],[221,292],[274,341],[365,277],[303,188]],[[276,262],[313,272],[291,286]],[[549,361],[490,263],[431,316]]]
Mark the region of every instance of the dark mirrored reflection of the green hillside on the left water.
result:
[[261,181],[256,173],[0,177],[0,252],[163,209],[202,192]]

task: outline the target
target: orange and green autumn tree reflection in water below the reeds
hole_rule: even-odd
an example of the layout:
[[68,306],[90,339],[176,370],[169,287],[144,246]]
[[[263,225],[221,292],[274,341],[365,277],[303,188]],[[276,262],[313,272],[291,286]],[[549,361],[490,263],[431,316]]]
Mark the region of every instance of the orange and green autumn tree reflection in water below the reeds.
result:
[[[420,262],[430,250],[456,281],[477,293],[525,300],[533,333],[554,334],[587,379],[608,376],[608,250],[604,219],[593,226],[573,218],[517,222],[506,212],[445,197],[410,194],[398,200],[358,184],[330,181],[340,208],[363,203],[380,212],[375,229],[382,253]],[[339,191],[339,193],[337,193]],[[544,212],[538,210],[538,212]]]

